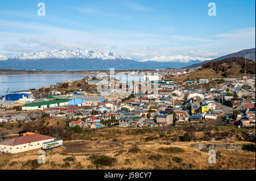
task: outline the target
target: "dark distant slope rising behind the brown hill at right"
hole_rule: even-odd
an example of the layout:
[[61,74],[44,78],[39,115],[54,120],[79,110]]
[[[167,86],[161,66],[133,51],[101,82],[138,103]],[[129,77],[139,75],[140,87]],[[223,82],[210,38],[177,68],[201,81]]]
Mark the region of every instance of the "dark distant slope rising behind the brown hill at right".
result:
[[244,57],[244,58],[255,61],[255,48],[241,50],[240,52],[227,54],[222,57],[214,58],[213,60],[207,60],[207,61],[203,61],[199,64],[189,65],[189,66],[186,66],[185,68],[196,68],[196,67],[202,66],[203,64],[205,64],[207,62],[214,62],[214,61],[223,60],[225,58],[230,58],[230,57]]

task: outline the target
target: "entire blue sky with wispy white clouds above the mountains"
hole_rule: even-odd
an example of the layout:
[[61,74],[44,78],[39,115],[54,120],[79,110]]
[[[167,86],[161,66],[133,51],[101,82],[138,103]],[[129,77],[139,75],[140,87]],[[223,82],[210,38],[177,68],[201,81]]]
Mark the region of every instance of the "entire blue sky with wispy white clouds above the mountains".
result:
[[[208,14],[210,2],[216,16]],[[0,55],[77,48],[134,60],[255,48],[255,1],[0,1]]]

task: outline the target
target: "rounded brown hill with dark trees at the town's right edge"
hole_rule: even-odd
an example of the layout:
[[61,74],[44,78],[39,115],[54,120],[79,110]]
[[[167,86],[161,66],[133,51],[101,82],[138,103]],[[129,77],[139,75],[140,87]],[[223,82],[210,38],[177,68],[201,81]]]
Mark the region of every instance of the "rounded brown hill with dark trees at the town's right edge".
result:
[[247,60],[243,57],[231,57],[224,60],[207,62],[202,65],[201,69],[192,71],[191,73],[181,75],[176,79],[195,79],[195,78],[241,78],[250,73],[255,75],[255,61]]

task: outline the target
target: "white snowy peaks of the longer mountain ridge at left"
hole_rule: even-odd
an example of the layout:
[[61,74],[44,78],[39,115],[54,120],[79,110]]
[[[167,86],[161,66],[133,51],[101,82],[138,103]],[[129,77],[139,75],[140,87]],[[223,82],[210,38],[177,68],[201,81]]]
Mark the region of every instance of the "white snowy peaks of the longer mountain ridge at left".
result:
[[[46,58],[56,58],[56,59],[76,59],[76,58],[89,58],[89,59],[100,59],[100,60],[117,60],[117,59],[131,59],[128,57],[122,57],[118,53],[113,52],[93,52],[92,50],[51,50],[51,51],[41,51],[34,53],[24,53],[21,55],[15,55],[9,57],[9,59],[17,60],[35,60],[35,59],[46,59]],[[1,60],[0,56],[0,60]],[[7,60],[8,58],[3,56],[2,60]]]

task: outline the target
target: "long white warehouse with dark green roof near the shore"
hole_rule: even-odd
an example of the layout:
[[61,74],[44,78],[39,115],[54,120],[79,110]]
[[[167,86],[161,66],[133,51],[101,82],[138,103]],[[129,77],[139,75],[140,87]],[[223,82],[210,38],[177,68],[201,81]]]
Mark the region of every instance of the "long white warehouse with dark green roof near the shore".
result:
[[67,106],[69,99],[57,99],[38,103],[29,103],[22,106],[22,110],[43,110],[49,107]]

